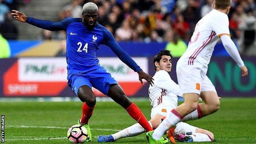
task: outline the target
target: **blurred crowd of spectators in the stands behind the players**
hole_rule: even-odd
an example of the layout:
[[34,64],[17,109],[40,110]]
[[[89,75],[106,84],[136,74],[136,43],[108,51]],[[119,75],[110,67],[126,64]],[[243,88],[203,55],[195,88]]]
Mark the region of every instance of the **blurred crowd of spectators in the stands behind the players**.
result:
[[[22,1],[22,2],[21,2]],[[0,0],[0,33],[16,39],[18,30],[12,25],[10,9],[26,5],[30,0]],[[82,17],[87,2],[98,5],[98,23],[106,27],[117,41],[167,41],[167,47],[186,49],[194,27],[212,10],[213,0],[71,0],[59,11],[59,21]],[[255,0],[232,0],[229,13],[231,38],[237,40],[240,52],[256,55]],[[66,38],[65,32],[43,30],[41,39]]]

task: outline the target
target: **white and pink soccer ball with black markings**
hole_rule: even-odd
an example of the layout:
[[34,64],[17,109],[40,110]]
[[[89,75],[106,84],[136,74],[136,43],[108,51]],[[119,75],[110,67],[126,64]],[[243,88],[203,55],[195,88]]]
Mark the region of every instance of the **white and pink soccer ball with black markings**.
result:
[[72,144],[84,143],[88,137],[88,132],[83,125],[73,125],[68,130],[68,139]]

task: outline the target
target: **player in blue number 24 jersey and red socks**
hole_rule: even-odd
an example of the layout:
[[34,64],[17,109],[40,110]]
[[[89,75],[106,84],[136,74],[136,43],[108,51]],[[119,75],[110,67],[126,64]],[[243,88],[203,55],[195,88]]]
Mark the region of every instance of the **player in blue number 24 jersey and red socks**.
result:
[[101,44],[105,44],[122,62],[139,74],[141,82],[142,79],[145,79],[150,85],[153,83],[153,78],[142,71],[134,60],[121,49],[111,32],[97,23],[98,7],[96,4],[86,3],[82,9],[82,18],[67,18],[59,22],[27,17],[16,10],[12,10],[11,15],[17,21],[29,23],[45,30],[65,30],[67,32],[68,85],[83,102],[82,117],[78,120],[78,123],[87,128],[88,142],[92,140],[88,121],[96,104],[96,96],[91,87],[95,87],[125,108],[128,114],[146,131],[153,130],[139,108],[126,97],[117,81],[99,64],[96,51]]

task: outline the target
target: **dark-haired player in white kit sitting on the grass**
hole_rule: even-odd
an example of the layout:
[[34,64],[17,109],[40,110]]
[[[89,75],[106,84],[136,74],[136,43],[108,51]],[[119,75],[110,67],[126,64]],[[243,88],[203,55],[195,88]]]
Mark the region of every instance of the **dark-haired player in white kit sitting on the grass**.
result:
[[[149,86],[149,99],[151,101],[151,120],[149,123],[153,129],[161,123],[161,119],[178,105],[180,95],[179,86],[171,80],[168,73],[171,72],[172,55],[169,50],[161,50],[154,57],[155,75],[154,85]],[[144,133],[145,130],[139,123],[125,128],[117,133],[108,136],[99,136],[98,142],[114,142],[123,137],[133,137]],[[174,130],[176,140],[180,142],[211,142],[214,139],[213,133],[208,130],[191,126],[187,123],[179,122]],[[168,142],[161,137],[160,143]]]

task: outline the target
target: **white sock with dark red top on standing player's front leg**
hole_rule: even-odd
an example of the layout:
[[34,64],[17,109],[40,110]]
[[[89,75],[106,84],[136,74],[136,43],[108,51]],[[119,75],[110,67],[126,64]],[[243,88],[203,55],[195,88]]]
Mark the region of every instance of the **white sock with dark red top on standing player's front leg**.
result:
[[169,130],[172,126],[175,126],[178,122],[181,121],[183,116],[176,112],[176,110],[171,110],[167,117],[160,123],[160,125],[154,130],[152,137],[155,140],[160,140],[162,135]]

